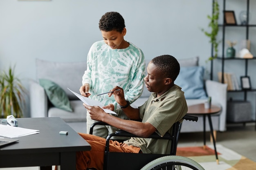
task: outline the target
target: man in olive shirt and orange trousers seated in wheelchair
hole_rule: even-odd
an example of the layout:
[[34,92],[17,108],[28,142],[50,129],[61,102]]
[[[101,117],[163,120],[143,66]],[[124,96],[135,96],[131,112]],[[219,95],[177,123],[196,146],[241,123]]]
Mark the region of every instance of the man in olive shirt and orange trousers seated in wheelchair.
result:
[[[150,61],[147,72],[148,75],[144,78],[145,85],[148,91],[153,93],[139,108],[130,106],[129,101],[124,98],[123,89],[118,86],[111,90],[114,91],[113,93],[108,93],[109,97],[114,95],[115,100],[130,120],[111,116],[98,106],[83,104],[92,119],[106,122],[138,136],[123,143],[110,140],[110,152],[166,154],[170,150],[171,141],[147,137],[153,132],[157,132],[161,137],[166,132],[171,133],[173,124],[182,121],[187,113],[184,92],[174,84],[180,72],[180,64],[171,55],[161,55]],[[117,91],[117,89],[120,90]],[[88,141],[92,149],[76,153],[76,169],[96,168],[102,170],[106,139],[90,134],[79,133],[79,135]]]

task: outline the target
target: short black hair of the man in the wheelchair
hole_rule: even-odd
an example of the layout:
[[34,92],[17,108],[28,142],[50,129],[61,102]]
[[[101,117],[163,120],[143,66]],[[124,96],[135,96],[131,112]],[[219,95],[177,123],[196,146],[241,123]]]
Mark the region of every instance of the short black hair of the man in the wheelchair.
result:
[[173,82],[180,73],[180,64],[175,57],[171,55],[160,55],[151,60],[157,66],[165,78],[171,78]]

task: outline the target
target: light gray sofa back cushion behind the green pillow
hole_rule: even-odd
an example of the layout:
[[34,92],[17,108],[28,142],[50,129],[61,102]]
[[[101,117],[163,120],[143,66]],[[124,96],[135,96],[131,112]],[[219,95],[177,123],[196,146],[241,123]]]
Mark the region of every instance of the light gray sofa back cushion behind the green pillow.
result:
[[36,59],[36,80],[52,80],[65,91],[69,99],[77,99],[67,88],[73,91],[79,91],[79,88],[82,86],[82,77],[86,69],[86,61],[51,62]]

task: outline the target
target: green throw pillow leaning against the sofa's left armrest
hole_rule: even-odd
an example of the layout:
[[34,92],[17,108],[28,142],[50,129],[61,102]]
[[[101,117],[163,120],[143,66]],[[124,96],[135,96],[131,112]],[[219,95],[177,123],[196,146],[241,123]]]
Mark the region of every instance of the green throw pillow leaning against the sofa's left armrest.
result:
[[58,84],[48,79],[39,79],[39,84],[45,89],[48,99],[56,108],[73,111],[67,94]]

